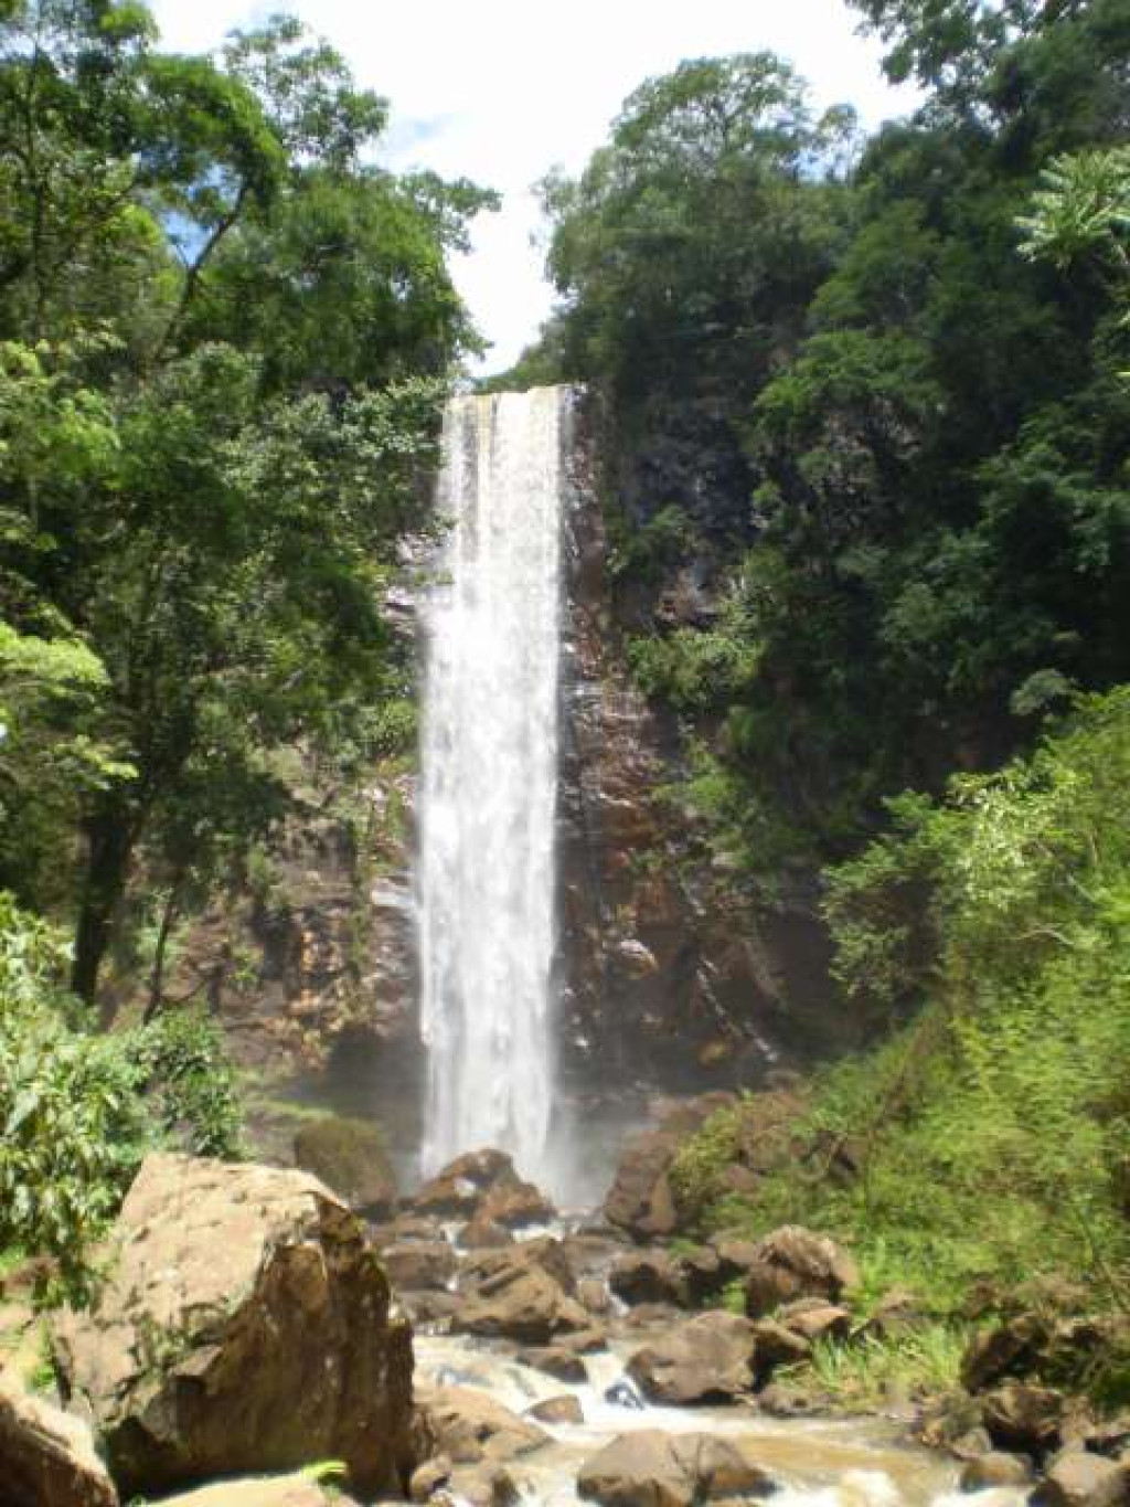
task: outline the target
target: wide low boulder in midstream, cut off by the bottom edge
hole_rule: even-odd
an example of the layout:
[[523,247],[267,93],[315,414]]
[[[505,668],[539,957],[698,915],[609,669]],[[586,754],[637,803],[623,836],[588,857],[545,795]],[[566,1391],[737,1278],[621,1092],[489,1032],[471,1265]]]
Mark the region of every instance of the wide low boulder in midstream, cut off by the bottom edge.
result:
[[603,1507],[692,1507],[771,1489],[767,1474],[728,1439],[658,1429],[619,1435],[577,1474],[577,1493]]

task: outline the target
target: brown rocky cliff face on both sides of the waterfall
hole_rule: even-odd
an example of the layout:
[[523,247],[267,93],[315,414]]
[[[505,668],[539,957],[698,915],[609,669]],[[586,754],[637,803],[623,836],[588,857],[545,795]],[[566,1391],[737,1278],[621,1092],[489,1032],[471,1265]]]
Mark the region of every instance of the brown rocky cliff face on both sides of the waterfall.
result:
[[[560,1061],[597,1093],[756,1085],[842,1043],[815,891],[793,877],[776,909],[758,906],[680,802],[680,728],[645,701],[621,651],[586,423],[582,411],[567,517]],[[710,573],[689,559],[661,612],[711,610]],[[408,1148],[423,1074],[410,761],[350,793],[304,772],[298,794],[259,891],[197,927],[170,993],[206,989],[244,1065],[282,1065],[348,1114],[380,1102]]]

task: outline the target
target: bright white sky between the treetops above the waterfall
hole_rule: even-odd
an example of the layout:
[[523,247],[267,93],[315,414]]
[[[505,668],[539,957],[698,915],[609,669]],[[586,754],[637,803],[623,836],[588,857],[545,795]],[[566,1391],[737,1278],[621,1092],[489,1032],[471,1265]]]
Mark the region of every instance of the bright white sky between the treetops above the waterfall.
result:
[[509,366],[548,312],[530,185],[557,163],[579,170],[636,84],[684,57],[771,48],[818,104],[848,101],[865,124],[909,109],[856,36],[844,0],[154,0],[169,48],[203,51],[271,11],[300,15],[392,101],[384,157],[497,188],[503,209],[476,223],[455,276]]

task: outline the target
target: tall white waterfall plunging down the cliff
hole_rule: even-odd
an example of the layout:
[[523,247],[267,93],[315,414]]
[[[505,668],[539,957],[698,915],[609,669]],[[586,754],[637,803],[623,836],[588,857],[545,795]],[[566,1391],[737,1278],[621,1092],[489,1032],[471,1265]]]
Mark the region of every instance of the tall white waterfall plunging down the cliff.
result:
[[568,402],[541,387],[444,414],[447,532],[423,603],[425,1172],[481,1145],[544,1172]]

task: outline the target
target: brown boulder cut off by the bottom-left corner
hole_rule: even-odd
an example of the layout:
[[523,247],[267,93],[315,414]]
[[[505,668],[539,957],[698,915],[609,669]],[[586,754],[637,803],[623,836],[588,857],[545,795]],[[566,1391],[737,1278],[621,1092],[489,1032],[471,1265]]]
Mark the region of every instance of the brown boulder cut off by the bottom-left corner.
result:
[[118,1492],[77,1418],[0,1379],[5,1507],[118,1507]]

